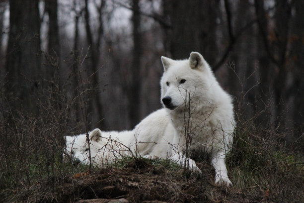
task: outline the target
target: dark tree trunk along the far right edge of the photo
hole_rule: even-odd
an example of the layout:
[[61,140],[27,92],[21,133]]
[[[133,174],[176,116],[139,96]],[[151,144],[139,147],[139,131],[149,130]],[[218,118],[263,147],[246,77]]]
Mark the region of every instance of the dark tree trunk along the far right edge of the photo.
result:
[[[286,98],[290,100],[291,119],[290,127],[294,130],[294,139],[287,140],[287,144],[297,147],[301,143],[301,136],[304,132],[304,1],[297,0],[293,4],[293,15],[291,20],[291,51],[288,70],[291,71],[292,84],[286,91]],[[299,141],[295,141],[299,140]],[[292,142],[294,141],[294,142]],[[294,145],[296,144],[296,145]]]

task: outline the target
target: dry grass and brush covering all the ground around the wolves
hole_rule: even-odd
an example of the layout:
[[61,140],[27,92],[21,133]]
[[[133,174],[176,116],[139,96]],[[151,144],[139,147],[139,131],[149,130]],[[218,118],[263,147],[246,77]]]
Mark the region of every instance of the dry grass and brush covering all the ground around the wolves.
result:
[[[285,133],[256,124],[258,114],[243,119],[237,112],[233,148],[227,158],[234,187],[214,184],[210,160],[196,159],[203,176],[189,176],[163,160],[126,159],[106,169],[73,166],[62,158],[65,135],[88,129],[89,90],[77,90],[84,109],[75,119],[75,100],[52,81],[42,89],[39,114],[11,109],[0,87],[0,200],[3,203],[60,203],[80,199],[126,198],[132,202],[304,202],[304,155],[284,145]],[[5,85],[5,84],[4,84]],[[81,95],[81,97],[80,97]],[[75,128],[77,126],[77,128]],[[80,129],[81,128],[81,129]],[[303,147],[303,136],[297,141]],[[82,173],[82,174],[80,174]],[[82,176],[81,176],[82,175]]]

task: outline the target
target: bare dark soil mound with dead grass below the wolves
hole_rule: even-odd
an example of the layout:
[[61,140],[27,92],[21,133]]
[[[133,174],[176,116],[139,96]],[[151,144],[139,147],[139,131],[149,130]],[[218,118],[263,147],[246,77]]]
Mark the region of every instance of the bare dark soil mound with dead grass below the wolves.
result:
[[[257,194],[248,189],[216,186],[210,164],[200,162],[198,166],[202,169],[202,177],[190,175],[182,169],[172,171],[161,165],[153,166],[144,160],[135,160],[123,169],[108,168],[75,174],[58,180],[55,185],[50,183],[51,180],[36,183],[28,189],[16,191],[14,202],[85,203],[90,201],[83,200],[91,199],[103,199],[96,200],[99,203],[114,199],[125,199],[132,203],[290,202],[288,194],[279,197],[271,191]],[[300,203],[301,200],[292,202]]]

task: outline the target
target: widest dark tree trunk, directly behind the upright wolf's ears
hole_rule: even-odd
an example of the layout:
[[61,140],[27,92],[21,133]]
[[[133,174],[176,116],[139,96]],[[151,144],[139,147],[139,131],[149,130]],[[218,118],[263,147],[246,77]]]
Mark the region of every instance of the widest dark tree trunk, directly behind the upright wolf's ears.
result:
[[[254,20],[251,20],[237,33],[233,33],[230,26],[232,24],[231,12],[227,9],[228,0],[225,0],[229,39],[228,45],[219,47],[216,38],[218,35],[217,20],[221,11],[219,0],[163,0],[162,2],[165,19],[168,19],[171,24],[170,27],[163,26],[165,28],[165,50],[170,50],[175,59],[187,58],[191,51],[198,51],[203,54],[214,71],[218,70],[226,61],[236,39],[254,23]],[[219,51],[220,49],[221,51]]]

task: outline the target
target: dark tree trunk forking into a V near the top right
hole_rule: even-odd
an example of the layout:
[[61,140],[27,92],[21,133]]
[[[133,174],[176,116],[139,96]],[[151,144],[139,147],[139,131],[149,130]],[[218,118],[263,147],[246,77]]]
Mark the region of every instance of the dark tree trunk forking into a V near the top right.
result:
[[[275,107],[276,109],[276,126],[280,131],[285,131],[285,102],[286,102],[286,55],[288,44],[289,24],[291,17],[291,5],[287,0],[278,0],[275,5],[275,26],[270,33],[263,22],[266,19],[262,2],[255,0],[255,11],[258,19],[259,32],[263,41],[264,49],[268,58],[272,61],[276,68],[274,79]],[[269,37],[270,36],[270,37]],[[269,38],[271,38],[269,40]]]

